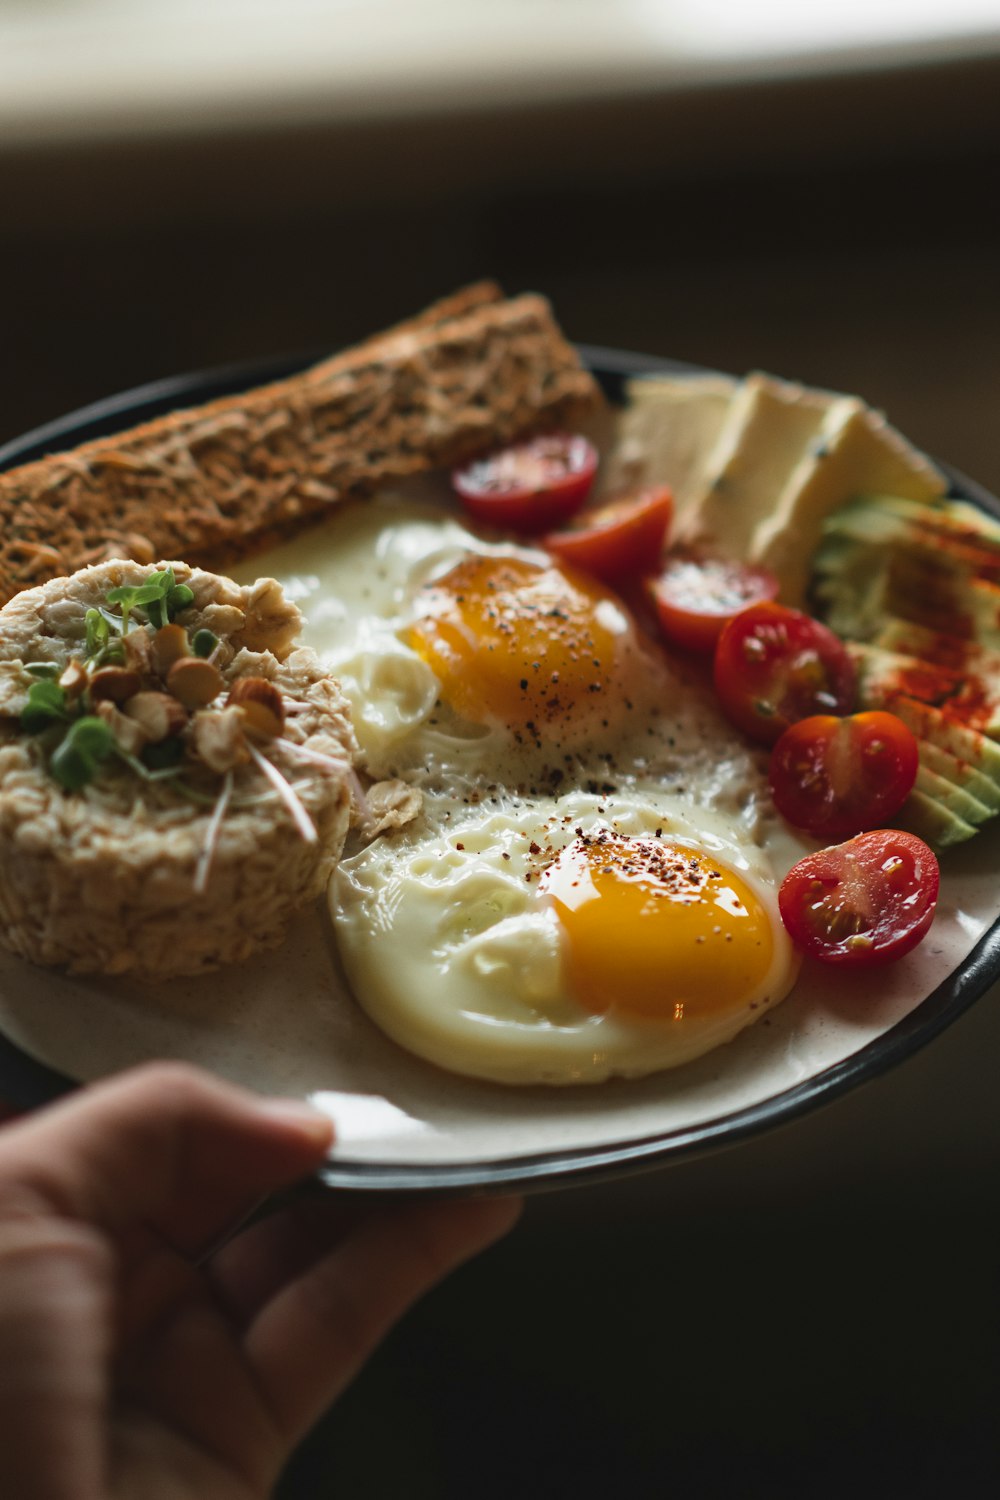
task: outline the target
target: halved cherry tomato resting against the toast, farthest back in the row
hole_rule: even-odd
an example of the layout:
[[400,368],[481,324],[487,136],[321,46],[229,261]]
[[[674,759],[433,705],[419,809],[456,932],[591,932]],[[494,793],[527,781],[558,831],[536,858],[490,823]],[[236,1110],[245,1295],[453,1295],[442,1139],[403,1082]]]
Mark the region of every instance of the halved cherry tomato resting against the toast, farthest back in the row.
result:
[[477,520],[538,536],[574,516],[597,472],[597,448],[568,432],[514,442],[451,474],[451,484]]

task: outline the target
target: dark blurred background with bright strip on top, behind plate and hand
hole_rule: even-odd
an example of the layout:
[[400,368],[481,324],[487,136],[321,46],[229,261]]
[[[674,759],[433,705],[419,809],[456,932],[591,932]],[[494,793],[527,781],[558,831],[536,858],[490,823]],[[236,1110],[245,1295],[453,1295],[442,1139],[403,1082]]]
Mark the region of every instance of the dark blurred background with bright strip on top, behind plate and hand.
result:
[[[489,274],[1000,490],[999,189],[997,0],[0,0],[0,442]],[[282,1500],[993,1496],[999,1048],[535,1200]]]

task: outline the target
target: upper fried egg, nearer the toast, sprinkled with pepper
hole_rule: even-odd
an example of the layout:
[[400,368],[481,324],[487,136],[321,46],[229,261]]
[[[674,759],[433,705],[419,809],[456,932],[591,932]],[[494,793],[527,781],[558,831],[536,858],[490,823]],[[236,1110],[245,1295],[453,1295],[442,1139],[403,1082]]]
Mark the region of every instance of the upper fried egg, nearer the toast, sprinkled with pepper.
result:
[[546,552],[385,495],[264,562],[340,680],[372,778],[469,796],[655,777],[744,812],[751,758],[711,696],[621,598]]

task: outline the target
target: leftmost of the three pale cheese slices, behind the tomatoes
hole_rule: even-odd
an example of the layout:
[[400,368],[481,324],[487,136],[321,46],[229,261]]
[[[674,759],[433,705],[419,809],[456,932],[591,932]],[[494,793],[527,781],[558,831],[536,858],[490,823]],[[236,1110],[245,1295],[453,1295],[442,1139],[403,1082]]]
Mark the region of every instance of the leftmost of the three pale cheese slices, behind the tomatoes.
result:
[[669,484],[675,516],[702,490],[702,472],[738,387],[729,375],[645,375],[628,381],[627,408],[601,474],[601,492]]

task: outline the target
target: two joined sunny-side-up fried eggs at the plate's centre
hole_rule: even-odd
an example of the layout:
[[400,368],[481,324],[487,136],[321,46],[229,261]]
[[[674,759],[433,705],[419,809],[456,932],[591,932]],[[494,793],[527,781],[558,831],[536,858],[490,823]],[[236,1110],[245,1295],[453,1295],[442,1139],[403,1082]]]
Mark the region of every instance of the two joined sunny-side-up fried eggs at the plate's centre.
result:
[[421,794],[330,888],[348,984],[400,1046],[504,1083],[636,1077],[787,993],[754,753],[621,598],[412,495],[265,564],[361,770]]

